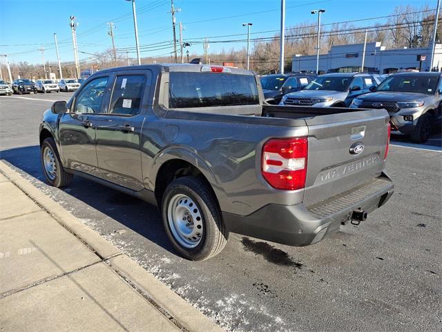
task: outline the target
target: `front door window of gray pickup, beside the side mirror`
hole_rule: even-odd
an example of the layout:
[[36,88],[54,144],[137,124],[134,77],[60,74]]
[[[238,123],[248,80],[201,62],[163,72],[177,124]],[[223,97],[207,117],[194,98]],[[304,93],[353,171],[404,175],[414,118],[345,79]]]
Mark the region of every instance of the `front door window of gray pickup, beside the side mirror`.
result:
[[100,113],[108,77],[99,77],[84,87],[77,96],[75,113]]

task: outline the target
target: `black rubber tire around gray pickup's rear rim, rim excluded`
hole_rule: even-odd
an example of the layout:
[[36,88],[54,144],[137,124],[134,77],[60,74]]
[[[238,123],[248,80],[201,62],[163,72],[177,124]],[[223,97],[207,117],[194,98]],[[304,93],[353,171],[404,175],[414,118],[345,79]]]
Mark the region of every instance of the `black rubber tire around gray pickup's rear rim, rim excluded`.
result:
[[[169,224],[168,208],[173,197],[184,194],[192,199],[196,208],[202,212],[202,234],[198,246],[186,248],[175,239]],[[196,209],[195,209],[196,210]],[[195,211],[194,210],[194,211]],[[177,178],[166,188],[162,198],[162,219],[167,237],[177,252],[191,261],[203,261],[218,255],[226,246],[229,232],[222,221],[218,202],[207,187],[206,183],[195,176]]]

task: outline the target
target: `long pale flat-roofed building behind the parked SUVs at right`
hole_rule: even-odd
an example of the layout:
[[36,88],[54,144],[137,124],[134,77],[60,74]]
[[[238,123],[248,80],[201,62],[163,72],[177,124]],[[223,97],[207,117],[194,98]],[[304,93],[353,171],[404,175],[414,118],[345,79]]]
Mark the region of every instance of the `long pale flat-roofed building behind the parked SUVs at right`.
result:
[[[319,55],[319,73],[345,73],[360,71],[364,44],[336,45],[327,54]],[[364,71],[369,73],[396,73],[404,69],[430,71],[431,46],[386,50],[381,42],[367,43],[365,48]],[[419,57],[421,56],[421,57]],[[442,44],[436,44],[433,70],[441,71]],[[316,71],[316,55],[294,55],[291,70]]]

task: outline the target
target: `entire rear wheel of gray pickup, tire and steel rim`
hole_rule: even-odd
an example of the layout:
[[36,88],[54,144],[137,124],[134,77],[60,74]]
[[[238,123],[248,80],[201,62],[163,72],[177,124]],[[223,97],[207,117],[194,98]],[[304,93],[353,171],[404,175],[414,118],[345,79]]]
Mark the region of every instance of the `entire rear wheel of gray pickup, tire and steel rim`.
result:
[[195,176],[177,178],[166,188],[162,219],[175,250],[192,261],[218,255],[229,238],[215,197]]

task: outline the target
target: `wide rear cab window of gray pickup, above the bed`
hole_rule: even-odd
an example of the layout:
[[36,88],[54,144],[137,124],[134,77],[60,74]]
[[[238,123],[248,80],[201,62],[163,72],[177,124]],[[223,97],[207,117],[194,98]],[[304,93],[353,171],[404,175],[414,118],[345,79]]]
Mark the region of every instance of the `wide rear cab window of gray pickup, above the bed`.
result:
[[252,75],[229,73],[170,73],[169,108],[259,104]]

